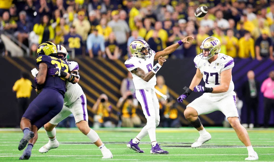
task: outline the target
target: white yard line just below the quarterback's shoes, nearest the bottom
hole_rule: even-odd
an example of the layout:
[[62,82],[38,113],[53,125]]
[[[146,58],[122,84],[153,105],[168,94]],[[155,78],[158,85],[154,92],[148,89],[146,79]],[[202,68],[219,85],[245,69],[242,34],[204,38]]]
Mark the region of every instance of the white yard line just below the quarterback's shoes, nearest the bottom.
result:
[[[223,156],[223,155],[248,155],[248,154],[185,154],[185,155],[170,155],[164,154],[159,156]],[[274,155],[274,154],[258,154],[258,155]],[[102,156],[102,155],[34,155],[33,157],[89,157],[89,156]],[[113,155],[113,156],[156,156],[155,154],[151,155]],[[0,157],[17,157],[14,155],[0,156]]]

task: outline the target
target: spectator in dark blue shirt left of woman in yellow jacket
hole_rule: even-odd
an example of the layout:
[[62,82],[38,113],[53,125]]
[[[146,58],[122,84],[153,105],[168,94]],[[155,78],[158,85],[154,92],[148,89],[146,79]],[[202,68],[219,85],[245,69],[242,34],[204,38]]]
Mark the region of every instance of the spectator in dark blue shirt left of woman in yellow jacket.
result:
[[[32,31],[32,24],[31,22],[27,22],[26,17],[27,17],[26,11],[21,11],[19,13],[17,31],[14,34],[19,40],[19,42],[21,44],[25,43],[25,45],[27,45],[28,34]],[[21,44],[19,44],[19,46],[21,46]]]

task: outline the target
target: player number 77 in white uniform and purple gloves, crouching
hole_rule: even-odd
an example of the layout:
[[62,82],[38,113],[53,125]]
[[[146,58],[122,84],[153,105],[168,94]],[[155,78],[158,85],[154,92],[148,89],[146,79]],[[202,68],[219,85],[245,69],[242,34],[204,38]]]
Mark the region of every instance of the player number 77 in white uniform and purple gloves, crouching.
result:
[[[246,129],[238,119],[236,106],[236,93],[232,81],[233,58],[221,51],[221,43],[216,37],[207,37],[200,46],[201,53],[194,58],[197,68],[189,88],[184,87],[185,93],[178,98],[183,102],[192,91],[204,93],[187,105],[184,111],[185,118],[195,127],[200,137],[191,147],[196,148],[211,139],[211,135],[202,126],[198,117],[201,114],[209,114],[213,111],[221,111],[236,131],[238,138],[244,143],[248,150],[246,160],[258,160],[257,153],[253,150]],[[205,86],[198,85],[204,79]]]

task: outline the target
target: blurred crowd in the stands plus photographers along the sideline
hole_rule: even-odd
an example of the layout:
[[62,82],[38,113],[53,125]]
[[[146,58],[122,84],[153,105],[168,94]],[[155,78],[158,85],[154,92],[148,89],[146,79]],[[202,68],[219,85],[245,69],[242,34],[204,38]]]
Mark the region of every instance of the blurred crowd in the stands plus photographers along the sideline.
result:
[[[196,18],[195,9],[201,5],[208,7],[208,14]],[[1,55],[17,56],[9,51],[15,49],[10,37],[18,39],[19,47],[29,47],[33,57],[41,42],[52,41],[74,49],[76,57],[115,60],[131,57],[128,46],[134,39],[146,40],[158,52],[193,35],[195,41],[180,46],[169,57],[195,57],[202,40],[214,36],[221,41],[221,52],[233,58],[274,61],[273,0],[1,0],[0,16]],[[122,110],[122,126],[139,126],[130,77],[122,81],[117,107]],[[132,89],[126,90],[127,86]],[[168,95],[162,76],[157,77],[155,88]],[[179,127],[175,100],[158,97],[162,126]],[[102,94],[93,106],[98,126],[118,123],[119,119],[113,122],[109,117],[108,107],[107,96]]]

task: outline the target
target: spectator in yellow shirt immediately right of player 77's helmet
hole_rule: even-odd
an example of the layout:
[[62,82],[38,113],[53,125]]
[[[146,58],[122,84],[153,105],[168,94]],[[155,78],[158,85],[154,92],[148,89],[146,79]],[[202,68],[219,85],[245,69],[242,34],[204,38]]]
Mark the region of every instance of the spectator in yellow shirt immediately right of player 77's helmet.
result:
[[227,30],[226,35],[227,55],[235,58],[237,57],[238,39],[234,37],[234,31],[232,29]]

